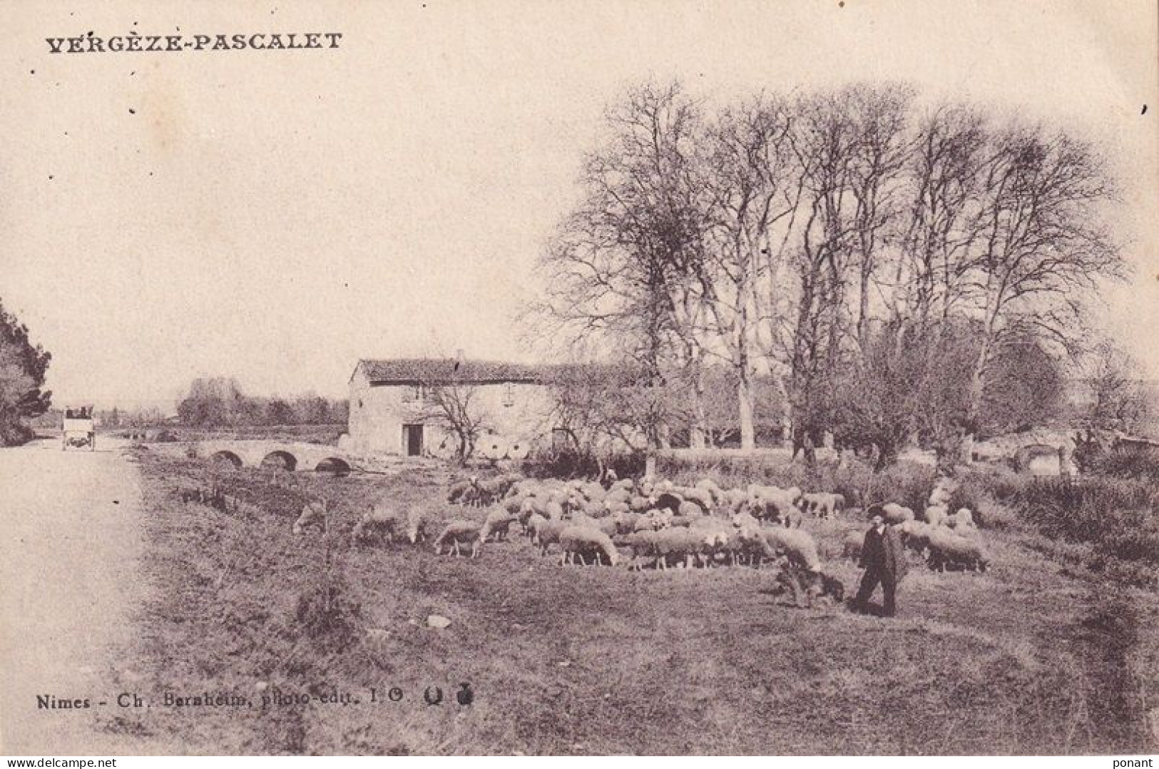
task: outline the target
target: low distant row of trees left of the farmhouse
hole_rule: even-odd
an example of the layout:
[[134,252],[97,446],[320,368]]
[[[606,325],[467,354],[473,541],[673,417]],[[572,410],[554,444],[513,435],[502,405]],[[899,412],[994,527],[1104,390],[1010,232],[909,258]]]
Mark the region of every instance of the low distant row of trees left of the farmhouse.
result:
[[242,393],[236,379],[194,379],[189,394],[177,404],[177,416],[188,427],[218,428],[260,425],[336,425],[348,419],[345,400],[320,396],[256,398]]

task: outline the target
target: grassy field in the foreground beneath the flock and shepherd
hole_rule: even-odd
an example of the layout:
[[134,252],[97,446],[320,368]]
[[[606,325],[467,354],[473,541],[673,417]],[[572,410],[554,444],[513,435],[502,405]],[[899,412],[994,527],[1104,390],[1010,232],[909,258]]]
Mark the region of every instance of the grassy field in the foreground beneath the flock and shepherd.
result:
[[[433,518],[447,471],[330,478],[211,471],[139,455],[147,600],[125,690],[209,691],[252,708],[153,708],[109,730],[190,753],[1124,754],[1156,749],[1159,600],[1044,546],[1016,521],[982,532],[986,573],[914,564],[901,616],[799,609],[746,567],[561,567],[519,537],[478,560],[349,546],[372,499]],[[212,474],[218,473],[218,474]],[[219,485],[246,502],[182,502]],[[306,499],[325,536],[293,536]],[[808,521],[837,552],[861,521]],[[427,626],[429,615],[451,621]],[[469,705],[454,692],[468,682]],[[423,691],[440,687],[444,702]],[[393,687],[402,699],[386,697]],[[370,690],[381,702],[370,702]],[[343,694],[358,704],[272,704]],[[431,690],[433,691],[433,690]]]

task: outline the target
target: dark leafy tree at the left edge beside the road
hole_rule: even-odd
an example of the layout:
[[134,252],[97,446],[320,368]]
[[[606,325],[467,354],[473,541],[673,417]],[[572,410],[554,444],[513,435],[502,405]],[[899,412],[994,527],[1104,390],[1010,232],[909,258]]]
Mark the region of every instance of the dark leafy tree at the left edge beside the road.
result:
[[51,354],[28,338],[28,327],[0,303],[0,444],[32,437],[29,420],[49,409],[52,393],[42,391]]

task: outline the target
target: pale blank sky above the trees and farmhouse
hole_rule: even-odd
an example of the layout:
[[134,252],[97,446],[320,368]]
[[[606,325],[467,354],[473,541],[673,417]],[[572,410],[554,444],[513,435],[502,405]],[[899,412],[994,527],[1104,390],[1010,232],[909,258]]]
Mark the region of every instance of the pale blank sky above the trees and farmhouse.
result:
[[[1154,0],[2,12],[0,299],[53,354],[58,404],[172,402],[196,376],[344,396],[359,357],[525,360],[512,315],[605,103],[672,77],[719,100],[903,80],[1106,142],[1137,271],[1105,322],[1159,377]],[[90,30],[343,37],[49,53]]]

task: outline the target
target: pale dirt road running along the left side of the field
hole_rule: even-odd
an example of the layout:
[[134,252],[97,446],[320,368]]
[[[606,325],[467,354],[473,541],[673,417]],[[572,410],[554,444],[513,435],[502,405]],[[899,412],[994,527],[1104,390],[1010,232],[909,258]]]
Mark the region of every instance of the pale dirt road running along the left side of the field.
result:
[[[137,467],[112,441],[0,449],[0,754],[155,752],[100,728],[118,709],[111,650],[132,632],[140,516]],[[66,701],[89,708],[43,706]]]

